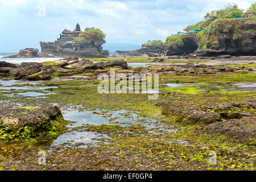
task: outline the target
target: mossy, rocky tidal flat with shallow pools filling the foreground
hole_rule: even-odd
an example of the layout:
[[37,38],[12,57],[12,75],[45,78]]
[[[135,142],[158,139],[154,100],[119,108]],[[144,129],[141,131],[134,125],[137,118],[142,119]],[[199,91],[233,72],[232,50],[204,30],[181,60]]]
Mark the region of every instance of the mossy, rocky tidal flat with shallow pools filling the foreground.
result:
[[[148,59],[0,62],[0,169],[254,170],[255,63]],[[158,99],[98,93],[111,68],[159,73]]]

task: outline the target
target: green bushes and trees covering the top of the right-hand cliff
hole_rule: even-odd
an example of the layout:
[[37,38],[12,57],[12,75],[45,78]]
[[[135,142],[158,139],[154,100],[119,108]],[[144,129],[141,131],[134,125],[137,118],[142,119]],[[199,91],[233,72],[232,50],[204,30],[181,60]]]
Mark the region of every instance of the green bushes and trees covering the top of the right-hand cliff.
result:
[[[197,34],[179,34],[176,36],[168,36],[166,45],[169,49],[176,49],[185,45],[183,38],[187,36],[197,36],[199,38],[199,49],[207,49],[214,42],[221,39],[239,40],[242,36],[251,36],[255,34],[256,18],[233,18],[234,16],[253,15],[255,14],[256,3],[253,3],[248,11],[239,9],[236,4],[228,4],[224,9],[210,11],[202,20],[196,24],[185,27],[184,31],[197,30],[199,28],[207,28],[199,31]],[[248,17],[248,16],[245,16]],[[249,16],[250,17],[250,16]]]

